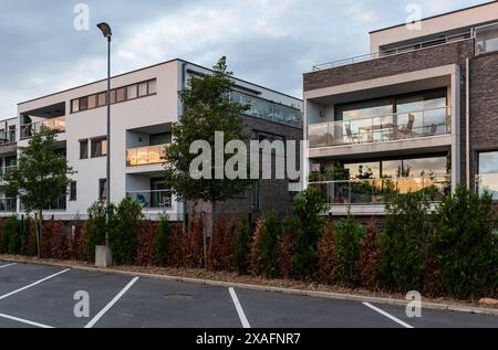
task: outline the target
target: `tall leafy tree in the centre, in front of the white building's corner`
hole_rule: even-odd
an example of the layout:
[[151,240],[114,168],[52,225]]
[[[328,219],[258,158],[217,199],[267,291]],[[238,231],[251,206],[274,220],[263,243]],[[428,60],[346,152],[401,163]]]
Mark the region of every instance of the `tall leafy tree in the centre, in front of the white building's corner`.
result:
[[[185,106],[185,114],[180,121],[173,127],[173,145],[166,151],[166,183],[175,195],[183,201],[209,202],[212,205],[212,226],[216,221],[216,203],[226,200],[246,190],[250,182],[247,179],[217,179],[215,155],[215,135],[224,132],[225,146],[232,140],[247,141],[248,137],[242,131],[240,114],[248,109],[230,100],[232,87],[232,73],[227,72],[227,60],[221,57],[214,67],[212,74],[193,76],[189,87],[179,93]],[[203,151],[190,153],[190,147],[195,141],[206,141],[210,146],[210,153]],[[240,151],[240,150],[239,150]],[[203,163],[203,172],[209,177],[194,179],[190,173],[190,165],[199,156],[209,159],[209,165]],[[219,156],[219,155],[218,155]],[[247,157],[247,156],[245,156]],[[247,159],[247,158],[246,158]],[[222,155],[225,167],[228,160]],[[246,177],[247,178],[247,177]]]

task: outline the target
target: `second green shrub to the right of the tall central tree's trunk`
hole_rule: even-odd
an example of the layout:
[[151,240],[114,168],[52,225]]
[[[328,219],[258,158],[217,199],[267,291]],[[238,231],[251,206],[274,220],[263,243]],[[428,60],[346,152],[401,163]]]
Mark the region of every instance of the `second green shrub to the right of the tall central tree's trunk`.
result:
[[279,273],[281,225],[276,212],[259,220],[251,247],[251,271],[256,275],[276,277]]

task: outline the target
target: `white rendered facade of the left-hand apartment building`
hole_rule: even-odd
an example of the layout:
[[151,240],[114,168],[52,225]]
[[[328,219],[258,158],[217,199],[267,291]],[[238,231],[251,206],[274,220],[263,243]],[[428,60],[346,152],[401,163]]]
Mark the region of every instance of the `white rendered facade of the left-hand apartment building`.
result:
[[[172,221],[183,220],[183,203],[175,198],[165,199],[165,189],[160,185],[160,179],[164,178],[164,165],[158,161],[157,150],[164,149],[170,142],[172,126],[183,114],[178,92],[186,86],[191,74],[209,72],[205,67],[174,60],[112,78],[112,89],[126,87],[125,94],[128,96],[125,95],[125,98],[135,97],[135,92],[137,95],[134,99],[112,104],[110,151],[112,202],[118,203],[126,195],[132,195],[144,201],[146,204],[144,211],[148,219],[154,220],[159,214],[167,214]],[[148,92],[139,97],[142,85],[135,86],[135,84],[142,82],[148,82],[148,85],[145,84]],[[237,78],[234,78],[234,89],[248,98],[261,98],[266,103],[301,109],[300,99]],[[131,89],[128,91],[127,87]],[[17,123],[20,125],[20,132],[17,132],[18,145],[27,146],[30,132],[37,131],[39,125],[56,128],[60,131],[58,134],[60,147],[65,149],[69,166],[75,171],[71,176],[75,182],[73,184],[75,193],[74,189],[73,193],[70,191],[65,199],[65,209],[49,210],[45,212],[46,218],[85,219],[87,209],[98,200],[102,193],[101,181],[106,178],[106,157],[105,152],[102,152],[105,146],[98,144],[98,140],[106,135],[106,107],[102,105],[90,108],[94,104],[94,97],[91,97],[92,100],[84,98],[84,102],[79,103],[73,100],[95,96],[105,91],[106,81],[104,79],[18,105]],[[123,97],[120,95],[122,93],[123,91],[116,92],[117,99]],[[98,105],[98,96],[95,98]],[[86,108],[81,108],[82,105]],[[82,157],[84,147],[81,146],[81,141],[85,140],[87,141],[86,158]],[[94,147],[93,141],[101,146]],[[148,158],[147,147],[149,147]],[[156,188],[154,183],[158,187]],[[158,198],[155,201],[154,195]],[[19,201],[17,211],[22,213]],[[1,214],[12,213],[2,212]]]

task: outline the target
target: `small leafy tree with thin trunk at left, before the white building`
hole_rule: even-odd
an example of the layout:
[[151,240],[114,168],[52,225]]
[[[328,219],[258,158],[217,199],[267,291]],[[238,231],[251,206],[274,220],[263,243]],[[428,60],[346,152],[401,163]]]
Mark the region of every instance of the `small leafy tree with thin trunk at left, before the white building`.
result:
[[37,246],[40,257],[43,210],[50,209],[68,194],[69,176],[74,171],[65,156],[56,151],[53,130],[35,134],[27,147],[19,148],[18,166],[6,177],[7,192],[19,197],[27,213],[37,212]]

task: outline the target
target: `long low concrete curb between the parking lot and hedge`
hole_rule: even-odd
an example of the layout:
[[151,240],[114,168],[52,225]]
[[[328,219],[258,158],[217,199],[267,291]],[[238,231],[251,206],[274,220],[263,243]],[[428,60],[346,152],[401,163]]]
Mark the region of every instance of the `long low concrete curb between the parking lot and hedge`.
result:
[[[115,274],[115,275],[129,276],[129,277],[143,277],[143,278],[162,279],[162,280],[168,280],[168,282],[189,283],[189,284],[205,285],[205,286],[211,286],[211,287],[239,288],[239,289],[248,289],[248,290],[281,293],[281,294],[287,294],[287,295],[308,296],[308,297],[335,299],[335,300],[374,303],[374,304],[403,306],[403,307],[405,307],[408,304],[407,300],[403,300],[403,299],[369,297],[369,296],[361,296],[361,295],[354,295],[354,294],[292,289],[292,288],[281,288],[281,287],[271,287],[271,286],[262,286],[262,285],[248,285],[248,284],[241,284],[241,283],[232,283],[232,282],[221,282],[221,280],[200,279],[200,278],[190,278],[190,277],[178,277],[178,276],[168,276],[168,275],[155,275],[155,274],[147,274],[147,273],[131,272],[131,271],[121,271],[121,269],[113,269],[113,268],[98,268],[98,267],[80,266],[80,265],[71,265],[71,264],[62,264],[62,263],[37,262],[37,261],[7,258],[7,257],[0,257],[0,258],[3,262],[9,262],[9,263],[56,266],[56,267],[72,268],[72,269],[86,271],[86,272],[98,272],[102,274]],[[467,305],[461,305],[461,304],[439,304],[439,303],[423,301],[422,307],[426,308],[426,309],[434,309],[434,310],[447,310],[447,311],[465,312],[465,314],[498,316],[498,308],[494,309],[494,308],[485,308],[485,307],[475,307],[475,306],[467,306]]]

